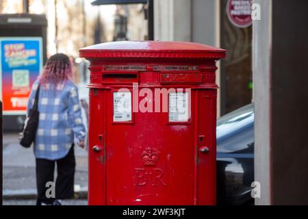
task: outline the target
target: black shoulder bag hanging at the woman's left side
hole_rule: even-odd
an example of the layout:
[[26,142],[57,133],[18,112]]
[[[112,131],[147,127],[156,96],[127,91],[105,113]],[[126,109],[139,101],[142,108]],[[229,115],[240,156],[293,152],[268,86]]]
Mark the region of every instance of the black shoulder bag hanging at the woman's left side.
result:
[[21,146],[29,148],[36,138],[36,130],[38,129],[38,119],[40,113],[38,112],[38,96],[40,94],[40,85],[38,85],[38,90],[36,90],[36,98],[34,100],[34,105],[31,110],[29,110],[29,115],[25,119],[25,124],[23,125],[23,131],[21,132]]

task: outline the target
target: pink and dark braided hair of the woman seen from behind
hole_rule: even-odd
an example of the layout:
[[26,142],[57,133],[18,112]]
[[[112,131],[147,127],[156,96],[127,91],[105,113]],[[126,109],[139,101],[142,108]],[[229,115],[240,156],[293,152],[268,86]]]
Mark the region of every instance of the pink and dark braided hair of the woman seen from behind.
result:
[[39,77],[41,85],[50,83],[56,87],[59,83],[65,83],[73,77],[73,66],[67,55],[56,53],[47,60],[42,75]]

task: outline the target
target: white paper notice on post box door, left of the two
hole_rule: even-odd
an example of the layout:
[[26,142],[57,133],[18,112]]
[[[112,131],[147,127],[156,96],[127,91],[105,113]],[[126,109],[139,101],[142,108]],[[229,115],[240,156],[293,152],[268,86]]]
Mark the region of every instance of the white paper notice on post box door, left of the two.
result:
[[114,122],[131,121],[131,92],[114,92]]

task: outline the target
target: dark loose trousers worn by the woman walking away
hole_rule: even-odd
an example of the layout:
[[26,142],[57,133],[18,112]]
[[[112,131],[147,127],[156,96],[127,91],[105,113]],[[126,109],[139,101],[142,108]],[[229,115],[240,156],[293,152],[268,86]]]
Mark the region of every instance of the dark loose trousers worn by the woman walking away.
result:
[[[57,179],[55,181],[55,197],[47,197],[51,193],[51,183],[54,182],[55,163],[57,163]],[[74,144],[68,154],[62,159],[36,159],[36,186],[38,188],[38,200],[36,205],[42,202],[51,204],[56,199],[72,198],[74,196],[75,154]],[[48,190],[48,191],[47,191]]]

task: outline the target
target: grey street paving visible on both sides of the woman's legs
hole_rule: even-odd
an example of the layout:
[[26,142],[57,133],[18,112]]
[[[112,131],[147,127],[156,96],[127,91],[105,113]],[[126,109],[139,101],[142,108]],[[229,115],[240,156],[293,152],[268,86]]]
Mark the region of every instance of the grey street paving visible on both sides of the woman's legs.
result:
[[[75,157],[75,197],[86,199],[88,193],[88,153],[86,149],[75,146]],[[7,201],[7,204],[12,204],[14,203],[12,200],[35,198],[36,174],[33,148],[25,149],[18,144],[17,133],[3,133],[3,203],[8,199],[10,201]],[[16,201],[16,205],[18,203],[23,202]],[[84,204],[85,201],[81,203]]]

